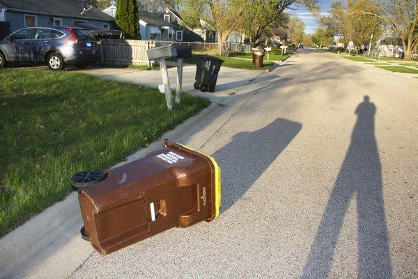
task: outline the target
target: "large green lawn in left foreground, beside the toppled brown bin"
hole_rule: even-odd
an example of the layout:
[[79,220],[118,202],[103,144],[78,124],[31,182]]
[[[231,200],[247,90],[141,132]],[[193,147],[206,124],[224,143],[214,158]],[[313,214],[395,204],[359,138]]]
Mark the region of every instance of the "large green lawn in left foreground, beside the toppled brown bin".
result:
[[0,236],[70,193],[70,177],[106,169],[209,101],[167,110],[157,89],[49,70],[0,70]]

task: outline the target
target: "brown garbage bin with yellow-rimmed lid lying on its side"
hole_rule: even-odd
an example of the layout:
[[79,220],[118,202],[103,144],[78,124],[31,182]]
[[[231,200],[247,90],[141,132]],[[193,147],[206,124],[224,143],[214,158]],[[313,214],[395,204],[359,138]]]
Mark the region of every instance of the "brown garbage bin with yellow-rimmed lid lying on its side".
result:
[[86,237],[105,255],[171,227],[215,219],[220,169],[214,158],[165,140],[163,149],[80,190],[79,204]]

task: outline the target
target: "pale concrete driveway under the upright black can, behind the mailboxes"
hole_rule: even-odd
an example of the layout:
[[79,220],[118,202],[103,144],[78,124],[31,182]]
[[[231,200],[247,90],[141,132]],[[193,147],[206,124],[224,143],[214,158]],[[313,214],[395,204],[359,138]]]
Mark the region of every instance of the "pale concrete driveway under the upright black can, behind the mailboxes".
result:
[[[117,80],[118,82],[133,82],[157,88],[162,84],[160,70],[134,70],[130,68],[91,68],[80,71],[104,77],[106,79]],[[193,93],[197,96],[209,98],[212,102],[219,103],[226,96],[235,94],[237,89],[247,85],[251,80],[263,73],[263,70],[242,70],[235,68],[222,67],[219,71],[217,86],[213,93],[202,93],[194,89],[194,76],[196,75],[196,65],[185,64],[183,66],[183,91]],[[176,90],[177,68],[169,68],[169,79],[171,90]]]

